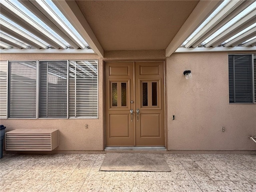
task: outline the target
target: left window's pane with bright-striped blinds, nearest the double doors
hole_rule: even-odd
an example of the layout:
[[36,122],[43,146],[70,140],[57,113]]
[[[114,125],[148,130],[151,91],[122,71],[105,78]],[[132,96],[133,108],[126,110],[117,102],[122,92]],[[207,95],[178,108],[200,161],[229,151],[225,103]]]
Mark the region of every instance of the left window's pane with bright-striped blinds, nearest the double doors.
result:
[[98,118],[97,60],[69,61],[69,117]]

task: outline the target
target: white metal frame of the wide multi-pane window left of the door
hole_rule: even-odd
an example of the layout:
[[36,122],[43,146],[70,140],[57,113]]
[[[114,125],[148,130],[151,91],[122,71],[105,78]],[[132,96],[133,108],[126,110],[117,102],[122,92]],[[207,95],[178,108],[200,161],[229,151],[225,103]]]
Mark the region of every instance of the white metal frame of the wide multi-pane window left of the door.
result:
[[[70,61],[95,61],[97,63],[97,116],[95,117],[69,117],[69,62]],[[98,70],[98,60],[97,59],[81,59],[81,60],[6,60],[7,62],[7,106],[6,106],[6,119],[98,119],[99,118],[99,70]],[[10,81],[9,81],[9,76],[10,76],[10,71],[9,71],[9,65],[10,62],[36,62],[36,118],[10,118],[8,117],[8,113],[10,110],[10,104],[9,104],[9,97],[10,97]],[[65,118],[39,118],[39,85],[40,85],[40,80],[39,80],[39,62],[67,62],[67,116]],[[1,118],[4,119],[4,118]]]

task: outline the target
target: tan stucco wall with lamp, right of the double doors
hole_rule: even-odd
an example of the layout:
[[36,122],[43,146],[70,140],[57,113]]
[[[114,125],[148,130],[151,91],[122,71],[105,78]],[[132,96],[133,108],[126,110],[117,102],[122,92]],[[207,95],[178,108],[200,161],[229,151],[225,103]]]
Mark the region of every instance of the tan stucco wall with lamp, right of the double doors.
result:
[[256,150],[256,105],[229,104],[228,53],[172,54],[167,96],[168,150]]

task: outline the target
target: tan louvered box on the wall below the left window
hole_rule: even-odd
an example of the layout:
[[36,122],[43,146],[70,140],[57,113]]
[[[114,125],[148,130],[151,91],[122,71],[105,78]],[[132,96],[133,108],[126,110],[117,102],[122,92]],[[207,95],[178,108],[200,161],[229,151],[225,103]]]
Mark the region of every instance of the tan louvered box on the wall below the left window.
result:
[[16,129],[5,134],[8,151],[52,151],[58,147],[58,129]]

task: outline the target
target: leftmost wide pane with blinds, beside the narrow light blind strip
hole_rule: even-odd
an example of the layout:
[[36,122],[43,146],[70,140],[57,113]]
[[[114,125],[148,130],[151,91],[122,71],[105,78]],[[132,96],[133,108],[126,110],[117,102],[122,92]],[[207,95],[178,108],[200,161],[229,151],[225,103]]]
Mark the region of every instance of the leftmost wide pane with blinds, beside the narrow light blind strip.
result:
[[9,118],[36,118],[36,61],[9,62]]

